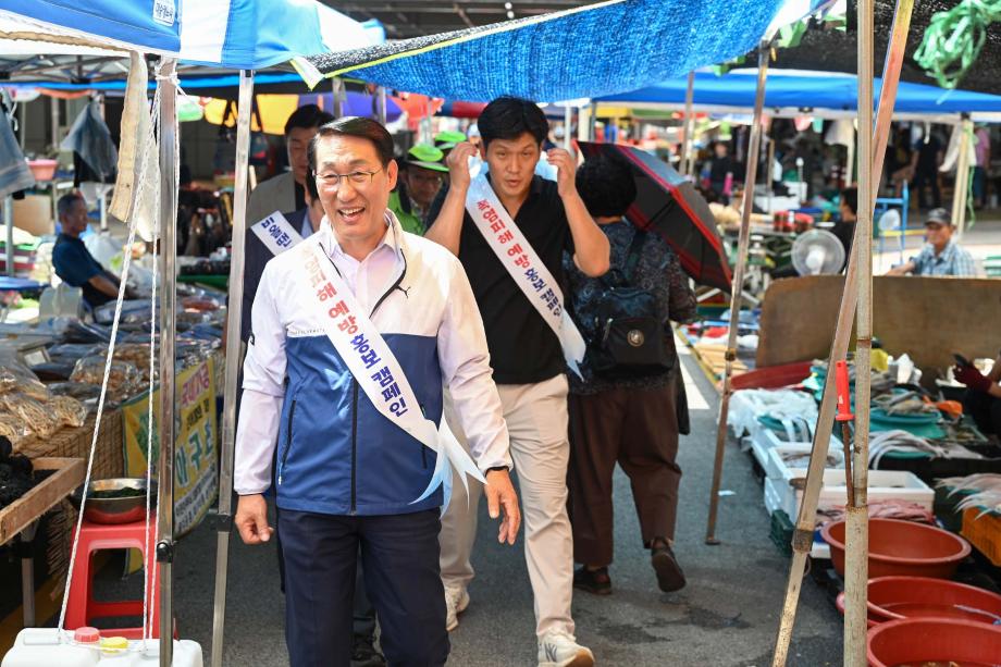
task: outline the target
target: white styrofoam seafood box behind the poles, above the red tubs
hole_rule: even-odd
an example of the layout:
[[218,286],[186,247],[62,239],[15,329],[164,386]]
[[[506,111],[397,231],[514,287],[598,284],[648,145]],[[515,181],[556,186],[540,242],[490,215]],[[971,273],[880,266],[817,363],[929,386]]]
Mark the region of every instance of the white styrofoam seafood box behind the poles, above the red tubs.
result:
[[[782,483],[779,485],[782,492],[782,509],[790,517],[799,516],[803,492],[793,489],[789,482],[795,478],[805,477],[805,468],[787,468]],[[868,499],[869,503],[875,501],[909,501],[931,511],[935,491],[913,472],[905,470],[869,470]],[[846,502],[848,491],[844,486],[844,470],[825,470],[824,486],[820,489],[817,509],[831,509],[837,506],[843,506]]]

